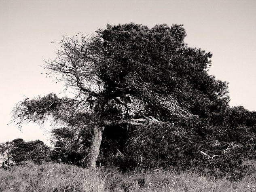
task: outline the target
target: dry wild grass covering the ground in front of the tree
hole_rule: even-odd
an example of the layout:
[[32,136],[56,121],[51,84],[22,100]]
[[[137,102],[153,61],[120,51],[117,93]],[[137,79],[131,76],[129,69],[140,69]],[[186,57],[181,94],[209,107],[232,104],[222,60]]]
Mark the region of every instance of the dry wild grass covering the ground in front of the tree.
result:
[[148,171],[121,173],[113,169],[82,169],[53,162],[25,162],[10,170],[0,169],[0,191],[11,192],[170,192],[256,191],[256,174],[242,181],[214,179],[196,171],[175,173]]

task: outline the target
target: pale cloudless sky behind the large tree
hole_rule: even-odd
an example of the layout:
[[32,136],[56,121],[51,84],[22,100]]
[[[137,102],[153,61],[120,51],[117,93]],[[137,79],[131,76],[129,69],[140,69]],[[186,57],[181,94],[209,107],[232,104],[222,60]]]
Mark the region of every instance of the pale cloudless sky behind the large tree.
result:
[[[15,103],[60,93],[42,75],[63,34],[91,34],[106,24],[183,24],[185,42],[213,53],[209,73],[229,82],[230,105],[256,110],[256,0],[0,0],[0,143],[49,142],[49,124],[10,124]],[[62,92],[59,96],[64,96]]]

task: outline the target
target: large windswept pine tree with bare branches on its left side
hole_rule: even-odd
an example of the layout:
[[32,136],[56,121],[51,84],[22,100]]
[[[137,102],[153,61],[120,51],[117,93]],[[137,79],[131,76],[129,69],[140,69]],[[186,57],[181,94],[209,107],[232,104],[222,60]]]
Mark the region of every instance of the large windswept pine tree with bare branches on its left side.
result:
[[13,110],[18,124],[51,115],[74,130],[91,129],[87,166],[96,160],[107,125],[150,118],[189,127],[228,106],[227,83],[207,74],[211,53],[184,43],[182,25],[107,25],[92,36],[63,37],[57,57],[46,61],[76,97],[26,98]]

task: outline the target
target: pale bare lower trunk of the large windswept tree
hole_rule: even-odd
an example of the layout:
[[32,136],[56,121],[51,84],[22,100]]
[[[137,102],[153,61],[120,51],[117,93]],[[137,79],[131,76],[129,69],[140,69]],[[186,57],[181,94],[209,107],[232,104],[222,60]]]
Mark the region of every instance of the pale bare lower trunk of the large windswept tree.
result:
[[96,168],[96,161],[99,156],[99,147],[102,143],[102,134],[104,127],[95,125],[93,128],[93,137],[91,139],[91,145],[89,147],[89,154],[87,158],[87,167]]

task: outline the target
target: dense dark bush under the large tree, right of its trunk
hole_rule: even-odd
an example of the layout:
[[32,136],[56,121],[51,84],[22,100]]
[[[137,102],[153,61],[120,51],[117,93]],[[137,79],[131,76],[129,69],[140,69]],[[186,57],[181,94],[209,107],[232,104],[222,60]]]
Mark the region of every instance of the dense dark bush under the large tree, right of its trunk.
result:
[[240,133],[243,136],[231,139],[233,135],[223,137],[217,127],[209,125],[184,131],[169,123],[154,123],[132,132],[125,157],[119,160],[125,159],[127,167],[133,168],[207,169],[239,179],[248,170],[255,170],[255,165],[245,166],[243,162],[253,160],[256,154],[255,137],[250,129],[244,128]]

